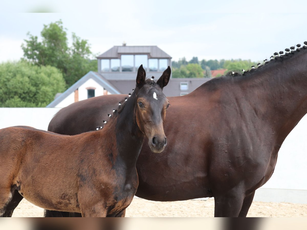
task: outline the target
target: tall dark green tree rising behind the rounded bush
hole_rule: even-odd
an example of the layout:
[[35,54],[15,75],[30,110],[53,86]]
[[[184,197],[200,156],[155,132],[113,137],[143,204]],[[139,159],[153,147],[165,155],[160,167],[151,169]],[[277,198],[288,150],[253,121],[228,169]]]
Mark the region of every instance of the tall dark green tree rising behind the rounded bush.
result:
[[66,29],[62,21],[44,25],[41,31],[42,41],[30,33],[25,44],[21,45],[25,60],[38,66],[54,66],[64,76],[67,87],[71,86],[87,72],[97,70],[97,60],[90,60],[92,55],[87,40],[72,33],[72,46],[68,47]]

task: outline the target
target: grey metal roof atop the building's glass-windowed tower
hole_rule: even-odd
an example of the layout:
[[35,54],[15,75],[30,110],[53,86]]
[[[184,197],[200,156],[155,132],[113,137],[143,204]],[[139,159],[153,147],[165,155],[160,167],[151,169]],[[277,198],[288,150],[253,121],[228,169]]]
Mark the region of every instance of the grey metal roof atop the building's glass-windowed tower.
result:
[[149,58],[172,58],[157,46],[113,46],[97,58],[120,58],[121,54],[147,54]]

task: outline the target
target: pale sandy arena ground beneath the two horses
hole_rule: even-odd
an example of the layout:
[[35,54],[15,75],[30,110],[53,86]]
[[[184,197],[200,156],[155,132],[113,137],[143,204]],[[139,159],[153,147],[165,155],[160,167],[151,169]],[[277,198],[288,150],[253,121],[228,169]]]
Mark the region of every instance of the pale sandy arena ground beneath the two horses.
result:
[[[43,217],[43,209],[23,199],[13,217]],[[134,198],[126,217],[213,217],[214,200],[173,202],[147,201]],[[267,203],[254,201],[248,217],[307,217],[307,204]]]

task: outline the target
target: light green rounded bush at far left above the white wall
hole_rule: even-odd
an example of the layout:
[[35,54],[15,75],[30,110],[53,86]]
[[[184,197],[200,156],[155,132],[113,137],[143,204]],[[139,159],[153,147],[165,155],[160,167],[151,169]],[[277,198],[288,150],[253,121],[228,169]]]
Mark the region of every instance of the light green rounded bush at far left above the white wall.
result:
[[45,107],[65,90],[62,73],[20,61],[0,64],[0,107]]

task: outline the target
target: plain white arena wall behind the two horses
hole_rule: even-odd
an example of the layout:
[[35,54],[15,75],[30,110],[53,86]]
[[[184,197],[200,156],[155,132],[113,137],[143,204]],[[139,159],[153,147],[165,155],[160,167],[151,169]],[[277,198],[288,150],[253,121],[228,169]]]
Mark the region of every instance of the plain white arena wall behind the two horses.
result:
[[[60,108],[0,108],[0,128],[28,125],[47,130]],[[307,115],[286,138],[270,180],[256,191],[254,200],[307,203]]]

